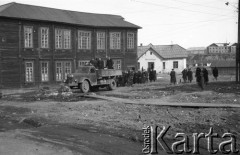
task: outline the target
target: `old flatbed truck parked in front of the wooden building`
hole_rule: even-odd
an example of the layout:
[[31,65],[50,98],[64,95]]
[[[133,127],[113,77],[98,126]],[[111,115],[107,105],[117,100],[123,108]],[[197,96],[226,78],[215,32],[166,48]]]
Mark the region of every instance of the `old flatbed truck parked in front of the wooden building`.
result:
[[79,88],[83,93],[106,87],[113,90],[117,87],[116,79],[122,70],[96,69],[94,66],[81,66],[75,73],[69,74],[65,83],[72,88]]

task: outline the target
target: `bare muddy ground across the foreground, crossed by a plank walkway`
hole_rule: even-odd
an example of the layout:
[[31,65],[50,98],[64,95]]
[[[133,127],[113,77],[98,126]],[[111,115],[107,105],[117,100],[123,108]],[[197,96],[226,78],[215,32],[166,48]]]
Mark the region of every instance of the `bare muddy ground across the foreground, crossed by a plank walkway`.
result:
[[[147,125],[171,126],[165,136],[169,145],[178,132],[191,136],[213,127],[220,136],[236,135],[240,149],[240,109],[218,108],[219,104],[240,104],[240,85],[234,82],[210,81],[202,91],[195,82],[170,85],[168,77],[163,77],[90,95],[116,100],[89,98],[77,89],[59,93],[51,87],[5,95],[0,100],[0,154],[142,154],[142,128]],[[179,106],[149,105],[152,100]],[[181,106],[186,102],[216,107]],[[223,140],[214,139],[214,147]],[[200,140],[200,148],[201,154],[209,154],[206,140]],[[166,154],[161,147],[158,150]]]

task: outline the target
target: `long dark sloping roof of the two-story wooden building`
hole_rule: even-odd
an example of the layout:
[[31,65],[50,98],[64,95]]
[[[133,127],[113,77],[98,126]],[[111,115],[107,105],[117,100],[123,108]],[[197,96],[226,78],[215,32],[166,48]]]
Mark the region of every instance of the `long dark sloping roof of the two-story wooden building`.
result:
[[84,13],[19,4],[15,2],[1,5],[0,17],[51,21],[94,27],[141,28],[135,24],[125,21],[124,18],[119,15]]

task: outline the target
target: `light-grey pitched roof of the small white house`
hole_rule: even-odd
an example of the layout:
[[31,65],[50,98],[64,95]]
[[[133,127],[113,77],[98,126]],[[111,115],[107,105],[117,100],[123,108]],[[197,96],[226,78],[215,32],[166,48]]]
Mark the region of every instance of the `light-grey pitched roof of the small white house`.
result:
[[164,59],[172,59],[172,58],[186,58],[188,57],[186,49],[183,47],[173,44],[173,45],[152,45],[149,44],[147,46],[139,46],[138,47],[138,58],[140,58],[144,53],[146,53],[149,49],[154,50]]

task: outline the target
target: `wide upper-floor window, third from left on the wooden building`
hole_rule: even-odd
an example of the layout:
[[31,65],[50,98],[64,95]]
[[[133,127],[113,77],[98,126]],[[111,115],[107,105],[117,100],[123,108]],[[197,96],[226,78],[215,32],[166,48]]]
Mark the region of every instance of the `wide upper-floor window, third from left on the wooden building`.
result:
[[56,49],[71,49],[71,31],[64,29],[55,30]]

